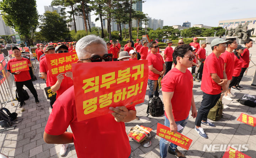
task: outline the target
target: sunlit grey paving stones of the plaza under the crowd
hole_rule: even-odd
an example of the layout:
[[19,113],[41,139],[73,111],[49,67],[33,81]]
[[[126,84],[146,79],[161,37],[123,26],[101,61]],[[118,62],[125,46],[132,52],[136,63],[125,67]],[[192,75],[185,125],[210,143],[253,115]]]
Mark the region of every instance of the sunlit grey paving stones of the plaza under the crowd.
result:
[[[207,46],[208,54],[211,53],[210,46]],[[250,48],[250,53],[253,57],[251,60],[256,63],[256,46]],[[250,66],[253,66],[252,62]],[[223,151],[203,151],[204,145],[247,145],[248,151],[243,153],[248,156],[256,157],[256,128],[250,125],[236,121],[239,115],[242,113],[256,117],[256,108],[241,105],[236,102],[243,94],[256,95],[256,87],[252,87],[251,83],[254,78],[256,66],[250,68],[247,75],[242,78],[241,86],[244,87],[241,92],[233,92],[237,96],[233,98],[233,101],[223,99],[223,102],[230,107],[230,109],[224,110],[223,118],[217,122],[214,122],[216,127],[202,126],[208,135],[208,139],[200,137],[194,128],[195,118],[189,117],[187,126],[184,128],[183,133],[187,137],[193,140],[189,150],[185,150],[178,147],[187,158],[222,158]],[[36,71],[36,74],[39,74]],[[49,100],[46,99],[44,88],[46,84],[44,81],[37,77],[37,81],[33,81],[34,86],[38,93],[40,103],[34,102],[33,95],[25,87],[30,95],[30,99],[26,101],[26,105],[23,109],[18,108],[18,102],[12,101],[6,105],[11,112],[17,112],[18,118],[21,119],[17,123],[17,127],[14,130],[5,131],[0,133],[0,153],[5,154],[10,158],[49,158],[49,157],[60,157],[59,150],[61,145],[46,144],[43,141],[44,127],[47,123],[51,108]],[[196,102],[197,109],[201,105],[202,90],[200,89],[200,82],[194,82],[194,100]],[[14,88],[15,90],[16,88]],[[13,92],[15,95],[15,91]],[[148,94],[148,89],[146,94]],[[160,91],[160,98],[162,99],[162,93]],[[182,101],[182,100],[181,100]],[[14,106],[12,106],[14,103]],[[145,96],[145,102],[136,106],[137,116],[140,120],[134,120],[126,123],[126,130],[128,131],[131,127],[138,125],[144,125],[150,127],[151,131],[151,142],[152,145],[148,148],[136,143],[130,139],[130,145],[132,148],[133,158],[158,158],[159,156],[159,139],[156,135],[157,123],[164,124],[164,115],[161,117],[152,117],[146,114],[146,108],[148,106],[148,95]],[[191,113],[190,113],[191,114]],[[69,128],[68,131],[71,131]],[[238,147],[238,146],[237,146]],[[75,158],[76,152],[74,144],[70,144],[67,150],[66,158]],[[167,154],[168,158],[172,158],[170,154]]]

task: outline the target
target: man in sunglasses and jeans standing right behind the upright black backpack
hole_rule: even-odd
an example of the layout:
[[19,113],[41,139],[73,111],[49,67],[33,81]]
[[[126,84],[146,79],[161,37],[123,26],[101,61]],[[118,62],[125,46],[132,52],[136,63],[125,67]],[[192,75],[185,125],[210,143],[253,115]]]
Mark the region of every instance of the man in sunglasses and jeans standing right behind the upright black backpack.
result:
[[149,65],[149,99],[154,95],[159,96],[159,88],[158,88],[158,78],[160,76],[164,76],[165,73],[165,63],[162,55],[158,52],[158,44],[156,41],[152,41],[149,44],[151,53],[148,54],[146,60],[148,60]]

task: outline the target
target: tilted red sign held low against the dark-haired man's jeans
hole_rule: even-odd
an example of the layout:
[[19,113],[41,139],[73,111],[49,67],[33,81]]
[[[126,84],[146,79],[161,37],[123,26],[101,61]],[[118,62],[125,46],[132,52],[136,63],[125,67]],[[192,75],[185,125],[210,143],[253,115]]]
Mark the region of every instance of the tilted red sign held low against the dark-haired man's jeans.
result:
[[166,127],[165,125],[162,125],[160,123],[158,123],[157,129],[156,129],[156,135],[186,150],[188,150],[188,148],[190,147],[193,141],[192,139],[186,137],[181,133],[178,133],[177,131],[174,134],[173,132],[170,131],[170,127]]

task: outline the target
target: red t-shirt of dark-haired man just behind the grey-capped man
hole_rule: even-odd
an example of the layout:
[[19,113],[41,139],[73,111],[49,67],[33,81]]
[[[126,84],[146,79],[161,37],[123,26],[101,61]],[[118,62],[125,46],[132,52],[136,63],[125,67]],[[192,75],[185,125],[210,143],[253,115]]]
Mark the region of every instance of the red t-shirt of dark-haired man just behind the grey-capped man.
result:
[[220,55],[220,57],[222,57],[224,63],[226,63],[226,75],[228,77],[228,80],[231,80],[234,72],[234,53],[225,51]]

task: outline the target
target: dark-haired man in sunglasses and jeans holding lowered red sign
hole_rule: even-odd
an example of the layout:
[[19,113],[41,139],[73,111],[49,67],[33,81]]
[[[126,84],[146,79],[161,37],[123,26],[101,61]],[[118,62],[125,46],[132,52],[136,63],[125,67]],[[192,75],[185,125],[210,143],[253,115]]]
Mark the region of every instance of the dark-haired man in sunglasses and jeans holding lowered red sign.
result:
[[[192,66],[195,58],[190,45],[177,46],[173,52],[173,62],[176,65],[161,81],[162,95],[165,107],[165,126],[170,127],[171,132],[176,133],[177,125],[183,128],[188,121],[190,108],[192,107],[192,117],[197,116],[196,104],[193,96],[193,76],[187,69]],[[183,100],[181,101],[181,99]],[[185,98],[185,99],[184,99]],[[183,129],[179,130],[182,133]],[[160,156],[166,158],[169,142],[163,138],[160,139]],[[171,143],[168,153],[178,158],[186,158],[177,149],[177,145]]]

